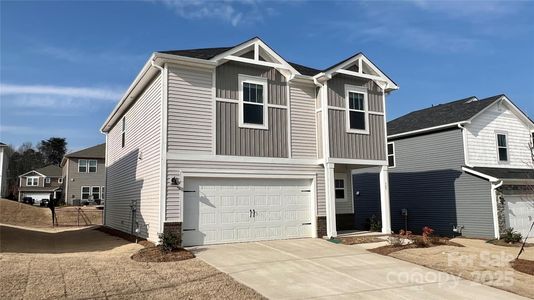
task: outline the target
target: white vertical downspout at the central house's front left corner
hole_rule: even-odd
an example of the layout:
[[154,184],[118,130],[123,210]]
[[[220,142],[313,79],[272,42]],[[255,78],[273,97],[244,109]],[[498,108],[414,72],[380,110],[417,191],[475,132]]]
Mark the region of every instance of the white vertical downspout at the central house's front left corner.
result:
[[161,72],[161,136],[160,136],[160,207],[158,233],[163,233],[165,209],[167,207],[167,69],[156,64],[155,57],[150,61],[152,67]]

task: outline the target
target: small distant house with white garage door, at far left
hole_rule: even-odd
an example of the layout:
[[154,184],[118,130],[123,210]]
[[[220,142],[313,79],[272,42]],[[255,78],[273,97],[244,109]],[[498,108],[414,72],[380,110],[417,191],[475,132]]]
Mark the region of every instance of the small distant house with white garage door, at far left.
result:
[[31,197],[36,202],[43,199],[61,197],[63,176],[61,168],[55,165],[32,170],[19,176],[19,201],[24,197]]

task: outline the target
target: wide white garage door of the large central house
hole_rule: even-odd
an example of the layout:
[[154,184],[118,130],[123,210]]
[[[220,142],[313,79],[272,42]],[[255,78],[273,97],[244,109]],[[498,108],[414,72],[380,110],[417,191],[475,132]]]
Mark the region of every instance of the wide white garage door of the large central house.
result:
[[184,246],[312,236],[311,180],[186,178]]

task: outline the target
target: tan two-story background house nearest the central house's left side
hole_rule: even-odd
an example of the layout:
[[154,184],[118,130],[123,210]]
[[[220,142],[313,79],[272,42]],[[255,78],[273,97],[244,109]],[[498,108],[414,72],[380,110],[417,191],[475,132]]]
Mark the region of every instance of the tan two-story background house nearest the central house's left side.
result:
[[100,204],[105,199],[106,144],[100,144],[66,154],[61,161],[64,181],[65,203],[81,204],[94,201]]

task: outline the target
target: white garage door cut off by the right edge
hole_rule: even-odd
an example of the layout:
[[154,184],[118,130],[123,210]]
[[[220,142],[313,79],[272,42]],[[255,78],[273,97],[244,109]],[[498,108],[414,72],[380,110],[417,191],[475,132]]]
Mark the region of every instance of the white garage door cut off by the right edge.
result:
[[[534,221],[534,199],[532,196],[505,196],[505,199],[506,226],[514,228],[526,237]],[[534,232],[530,234],[533,235]]]

